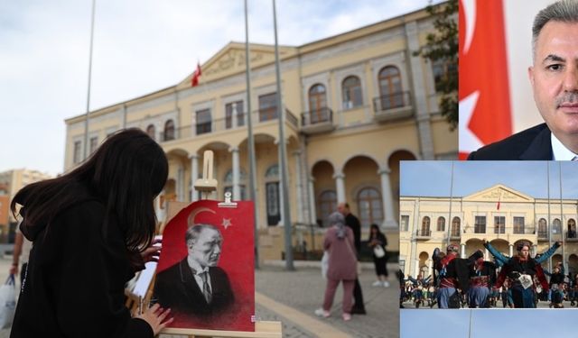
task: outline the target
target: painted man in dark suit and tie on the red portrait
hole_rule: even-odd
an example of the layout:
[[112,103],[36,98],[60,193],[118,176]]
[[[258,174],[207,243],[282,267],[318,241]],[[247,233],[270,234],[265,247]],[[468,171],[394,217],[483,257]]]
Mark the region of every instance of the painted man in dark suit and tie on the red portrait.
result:
[[234,303],[227,273],[217,267],[223,237],[213,225],[196,224],[185,242],[187,257],[156,275],[154,297],[175,315],[218,315]]

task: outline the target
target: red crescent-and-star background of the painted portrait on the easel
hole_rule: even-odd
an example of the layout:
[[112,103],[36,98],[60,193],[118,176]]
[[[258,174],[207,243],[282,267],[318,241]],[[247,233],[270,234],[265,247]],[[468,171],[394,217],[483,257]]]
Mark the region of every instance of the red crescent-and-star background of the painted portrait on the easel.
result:
[[[188,268],[186,264],[190,257],[185,242],[185,233],[190,226],[210,224],[222,237],[217,267],[227,276],[234,301],[229,306],[220,309],[219,313],[209,316],[183,314],[172,308],[170,316],[174,317],[174,322],[170,326],[254,332],[255,323],[252,321],[252,316],[255,315],[253,202],[238,201],[237,207],[219,207],[219,203],[213,200],[193,202],[166,224],[163,230],[163,249],[156,269],[154,294],[157,293],[160,274],[175,268],[180,268],[180,273],[177,275],[181,277],[174,280],[174,283],[177,283],[174,289],[182,288],[187,283],[192,289],[195,283],[192,279],[181,280],[184,279],[183,276],[186,276],[182,267]],[[218,281],[212,279],[210,283],[213,291],[217,292]],[[213,295],[213,297],[216,296]],[[154,300],[162,304],[162,299]],[[197,305],[191,304],[191,306]]]

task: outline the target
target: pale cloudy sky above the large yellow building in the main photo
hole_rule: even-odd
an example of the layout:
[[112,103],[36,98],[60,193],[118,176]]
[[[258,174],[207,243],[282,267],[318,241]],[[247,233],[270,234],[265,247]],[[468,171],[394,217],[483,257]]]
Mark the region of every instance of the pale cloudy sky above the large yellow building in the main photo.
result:
[[[278,0],[279,43],[302,45],[427,4]],[[272,1],[248,5],[250,41],[272,44]],[[63,120],[86,112],[91,6],[0,1],[0,171],[62,171]],[[242,0],[97,0],[90,109],[176,85],[229,41],[245,41]]]

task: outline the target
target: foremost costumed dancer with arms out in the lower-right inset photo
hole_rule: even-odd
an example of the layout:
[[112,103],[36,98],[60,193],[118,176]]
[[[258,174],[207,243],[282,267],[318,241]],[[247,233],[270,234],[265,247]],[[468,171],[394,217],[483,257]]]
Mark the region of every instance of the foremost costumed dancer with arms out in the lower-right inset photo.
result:
[[548,290],[548,282],[540,264],[530,258],[530,243],[519,242],[516,248],[517,255],[499,272],[496,288],[500,288],[508,279],[514,307],[533,308],[536,307],[534,277],[536,276],[545,291]]

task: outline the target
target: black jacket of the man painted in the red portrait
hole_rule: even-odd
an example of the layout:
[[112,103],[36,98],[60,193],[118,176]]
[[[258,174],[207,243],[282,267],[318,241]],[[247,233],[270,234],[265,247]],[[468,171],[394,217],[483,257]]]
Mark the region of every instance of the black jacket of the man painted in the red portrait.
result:
[[210,316],[226,310],[234,302],[227,273],[219,267],[209,268],[212,299],[210,304],[192,275],[185,257],[156,275],[154,297],[174,314]]

